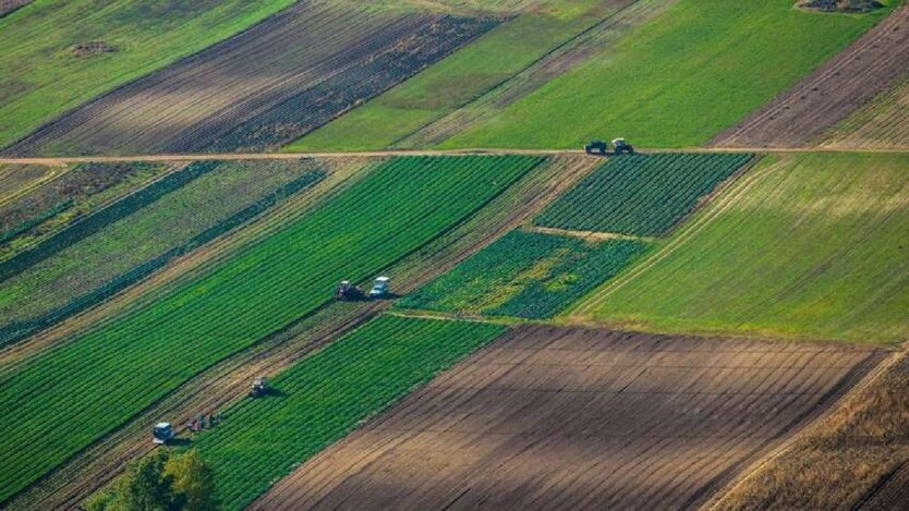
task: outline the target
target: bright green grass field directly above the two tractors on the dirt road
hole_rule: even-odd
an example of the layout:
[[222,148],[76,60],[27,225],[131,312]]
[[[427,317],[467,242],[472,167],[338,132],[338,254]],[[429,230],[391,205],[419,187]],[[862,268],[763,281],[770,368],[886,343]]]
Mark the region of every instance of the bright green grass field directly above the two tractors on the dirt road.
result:
[[680,0],[584,65],[440,147],[575,148],[619,135],[644,147],[700,145],[890,11],[820,14],[793,3]]

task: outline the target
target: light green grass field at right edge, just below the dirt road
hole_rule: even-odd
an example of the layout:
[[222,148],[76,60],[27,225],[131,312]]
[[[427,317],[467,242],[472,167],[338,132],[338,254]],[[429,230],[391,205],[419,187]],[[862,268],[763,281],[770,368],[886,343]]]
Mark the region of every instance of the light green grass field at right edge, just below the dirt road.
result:
[[909,338],[909,156],[779,158],[574,315],[669,332]]

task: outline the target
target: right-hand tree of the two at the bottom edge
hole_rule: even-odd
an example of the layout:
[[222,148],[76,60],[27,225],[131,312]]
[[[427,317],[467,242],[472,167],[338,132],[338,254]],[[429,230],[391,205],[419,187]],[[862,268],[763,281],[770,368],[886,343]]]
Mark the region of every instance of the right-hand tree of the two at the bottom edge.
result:
[[173,490],[185,511],[219,509],[215,496],[215,474],[195,450],[171,457],[165,463],[165,475],[173,480]]

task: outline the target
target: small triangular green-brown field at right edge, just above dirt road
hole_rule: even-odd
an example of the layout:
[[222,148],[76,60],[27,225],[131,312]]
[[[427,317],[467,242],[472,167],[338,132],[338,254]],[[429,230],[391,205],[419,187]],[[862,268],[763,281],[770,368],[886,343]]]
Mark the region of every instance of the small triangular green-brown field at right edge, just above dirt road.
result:
[[909,74],[831,129],[821,145],[837,149],[909,148]]

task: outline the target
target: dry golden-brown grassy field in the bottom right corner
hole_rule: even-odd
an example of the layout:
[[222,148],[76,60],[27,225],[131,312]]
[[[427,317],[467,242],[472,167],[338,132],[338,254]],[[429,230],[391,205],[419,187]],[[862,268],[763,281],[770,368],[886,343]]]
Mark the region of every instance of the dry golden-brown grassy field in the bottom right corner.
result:
[[862,385],[715,503],[717,510],[906,509],[909,357],[890,355]]

